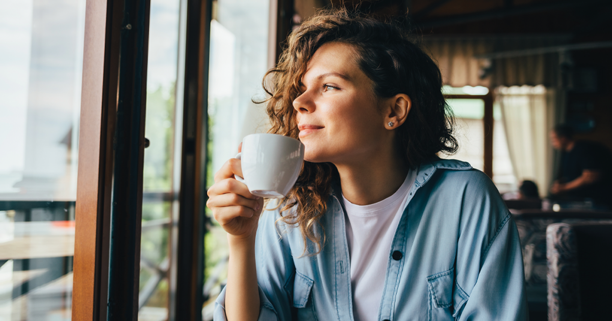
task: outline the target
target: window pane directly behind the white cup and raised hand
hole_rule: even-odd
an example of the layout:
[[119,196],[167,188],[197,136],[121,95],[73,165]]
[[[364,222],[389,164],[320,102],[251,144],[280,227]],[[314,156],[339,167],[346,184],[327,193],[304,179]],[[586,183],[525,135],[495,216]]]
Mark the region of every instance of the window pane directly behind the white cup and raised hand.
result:
[[[209,166],[207,185],[238,144],[250,133],[267,130],[261,79],[269,66],[269,0],[217,0],[213,2],[209,74]],[[211,217],[211,213],[207,213]],[[211,220],[214,221],[214,219]],[[214,300],[226,279],[225,232],[213,222],[204,238],[203,319],[212,320]]]

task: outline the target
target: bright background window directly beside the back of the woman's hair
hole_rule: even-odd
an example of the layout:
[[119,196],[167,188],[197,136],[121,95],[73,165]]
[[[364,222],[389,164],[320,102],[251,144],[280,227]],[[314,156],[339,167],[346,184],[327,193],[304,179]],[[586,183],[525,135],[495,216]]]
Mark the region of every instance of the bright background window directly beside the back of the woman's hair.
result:
[[467,161],[473,168],[484,168],[484,122],[485,101],[482,99],[447,99],[455,113],[455,138],[459,150],[455,155],[441,154],[442,158]]

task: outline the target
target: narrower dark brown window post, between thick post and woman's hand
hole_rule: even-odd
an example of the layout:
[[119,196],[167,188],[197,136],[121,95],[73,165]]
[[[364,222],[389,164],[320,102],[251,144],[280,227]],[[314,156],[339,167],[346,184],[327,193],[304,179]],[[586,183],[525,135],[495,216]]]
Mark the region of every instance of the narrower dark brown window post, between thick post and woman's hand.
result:
[[175,320],[202,320],[212,0],[187,0]]

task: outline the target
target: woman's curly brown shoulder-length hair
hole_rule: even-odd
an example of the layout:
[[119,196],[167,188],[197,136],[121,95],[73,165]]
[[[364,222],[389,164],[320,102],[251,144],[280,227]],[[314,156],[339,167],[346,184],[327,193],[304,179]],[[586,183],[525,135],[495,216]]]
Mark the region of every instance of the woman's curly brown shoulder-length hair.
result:
[[[325,43],[339,42],[356,49],[359,67],[373,81],[378,97],[401,93],[411,98],[408,118],[396,129],[397,148],[404,151],[409,168],[436,158],[438,152],[454,153],[457,140],[452,136],[452,114],[442,95],[440,70],[415,39],[398,21],[375,20],[346,9],[319,11],[291,32],[277,67],[264,76],[264,90],[271,96],[266,100],[272,125],[269,132],[298,138],[293,101],[301,94],[300,80],[308,61]],[[305,244],[308,238],[317,245],[317,252],[325,240],[321,240],[324,233],[319,234],[315,227],[327,210],[330,186],[337,177],[334,164],[305,161],[281,210],[288,213],[296,207],[293,214],[282,214],[280,220],[299,226]]]

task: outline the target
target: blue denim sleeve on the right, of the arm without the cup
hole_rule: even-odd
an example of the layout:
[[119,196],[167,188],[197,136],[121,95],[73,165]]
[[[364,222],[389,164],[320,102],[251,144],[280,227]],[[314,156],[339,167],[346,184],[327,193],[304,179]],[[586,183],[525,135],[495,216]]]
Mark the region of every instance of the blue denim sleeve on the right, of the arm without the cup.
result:
[[468,300],[458,320],[527,320],[523,254],[517,226],[486,175],[464,194],[458,240],[457,286]]

